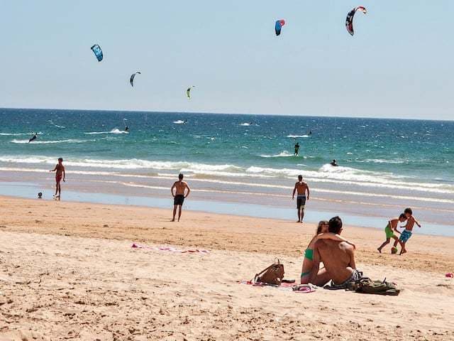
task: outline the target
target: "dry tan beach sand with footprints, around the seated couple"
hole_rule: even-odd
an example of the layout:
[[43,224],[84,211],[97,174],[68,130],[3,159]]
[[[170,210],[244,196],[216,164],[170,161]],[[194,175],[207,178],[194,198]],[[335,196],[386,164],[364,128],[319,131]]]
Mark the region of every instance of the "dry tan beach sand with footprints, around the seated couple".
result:
[[275,258],[299,279],[315,224],[11,197],[0,212],[0,340],[454,340],[453,238],[416,234],[396,256],[376,251],[384,232],[345,227],[358,268],[402,293],[294,293],[238,281]]

